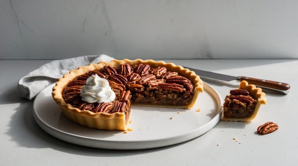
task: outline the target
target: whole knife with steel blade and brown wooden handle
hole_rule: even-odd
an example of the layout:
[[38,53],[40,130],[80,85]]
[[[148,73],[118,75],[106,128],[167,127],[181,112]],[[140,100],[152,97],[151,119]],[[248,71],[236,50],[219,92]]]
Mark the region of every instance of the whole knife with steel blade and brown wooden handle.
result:
[[290,88],[291,88],[291,86],[289,84],[282,83],[282,82],[261,80],[261,79],[245,77],[245,76],[235,77],[235,76],[231,76],[231,75],[224,75],[224,74],[219,74],[219,73],[214,73],[214,72],[209,72],[209,71],[204,71],[204,70],[199,70],[199,69],[193,69],[193,68],[185,67],[185,66],[182,66],[182,67],[194,71],[195,74],[197,74],[199,76],[215,78],[215,79],[224,80],[224,81],[237,80],[238,82],[240,82],[240,81],[246,80],[249,84],[254,84],[257,87],[271,90],[271,91],[280,92],[282,94],[288,94],[290,92]]

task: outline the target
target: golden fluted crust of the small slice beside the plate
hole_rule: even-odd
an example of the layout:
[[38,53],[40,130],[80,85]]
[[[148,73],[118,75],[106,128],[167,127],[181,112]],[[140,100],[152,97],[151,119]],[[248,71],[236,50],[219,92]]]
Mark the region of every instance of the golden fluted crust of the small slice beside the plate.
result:
[[254,99],[257,100],[254,111],[253,111],[252,115],[247,118],[229,118],[229,117],[223,116],[223,120],[225,120],[225,121],[242,121],[242,122],[251,121],[252,119],[254,119],[257,116],[260,106],[262,104],[267,103],[266,94],[264,92],[262,92],[262,89],[257,88],[253,84],[248,84],[247,81],[244,81],[244,80],[241,81],[238,89],[244,89],[244,90],[248,91],[249,94],[254,96]]

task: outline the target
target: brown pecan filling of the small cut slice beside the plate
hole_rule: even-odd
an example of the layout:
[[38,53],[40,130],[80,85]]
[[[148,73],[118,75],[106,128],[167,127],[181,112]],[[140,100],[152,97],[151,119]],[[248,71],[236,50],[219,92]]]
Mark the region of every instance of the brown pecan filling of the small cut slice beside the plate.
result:
[[246,90],[234,89],[230,91],[224,102],[225,118],[248,118],[252,116],[257,100]]

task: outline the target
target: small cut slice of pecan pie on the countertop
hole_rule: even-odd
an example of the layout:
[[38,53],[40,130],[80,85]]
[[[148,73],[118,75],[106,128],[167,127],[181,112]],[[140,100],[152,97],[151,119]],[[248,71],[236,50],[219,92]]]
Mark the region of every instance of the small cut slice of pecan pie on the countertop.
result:
[[247,122],[254,119],[261,104],[266,104],[266,94],[261,88],[241,81],[238,89],[230,91],[224,102],[225,121]]

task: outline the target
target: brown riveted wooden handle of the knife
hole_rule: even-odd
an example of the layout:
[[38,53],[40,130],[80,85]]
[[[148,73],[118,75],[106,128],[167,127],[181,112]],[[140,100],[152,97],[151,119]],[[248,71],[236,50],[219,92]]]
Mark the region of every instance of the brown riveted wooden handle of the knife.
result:
[[289,84],[282,83],[282,82],[261,80],[257,78],[244,77],[244,76],[240,77],[240,81],[243,81],[243,80],[246,80],[249,84],[260,86],[261,88],[265,87],[269,89],[276,89],[276,90],[283,91],[282,93],[285,93],[284,91],[288,91],[291,88]]

